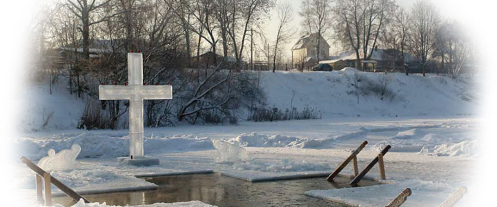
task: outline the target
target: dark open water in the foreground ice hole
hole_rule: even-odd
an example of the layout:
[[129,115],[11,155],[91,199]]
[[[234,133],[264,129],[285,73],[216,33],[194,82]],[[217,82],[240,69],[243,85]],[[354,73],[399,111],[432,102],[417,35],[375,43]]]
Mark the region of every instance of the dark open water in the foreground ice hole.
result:
[[[307,190],[351,187],[350,179],[337,177],[328,182],[324,177],[266,181],[251,183],[219,174],[179,175],[146,178],[159,185],[156,190],[127,193],[85,195],[92,202],[108,205],[142,205],[158,202],[172,203],[199,200],[215,206],[341,206],[331,201],[304,195]],[[371,186],[375,181],[363,180],[360,186]],[[70,206],[66,197],[55,198],[56,203]]]

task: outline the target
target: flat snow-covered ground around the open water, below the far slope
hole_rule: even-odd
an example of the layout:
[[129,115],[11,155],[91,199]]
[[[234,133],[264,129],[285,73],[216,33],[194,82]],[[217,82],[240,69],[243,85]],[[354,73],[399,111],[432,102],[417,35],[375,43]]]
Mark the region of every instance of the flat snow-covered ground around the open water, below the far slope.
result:
[[[301,131],[292,133],[295,130],[292,128],[297,124],[307,128],[306,137],[301,136]],[[78,192],[88,193],[154,186],[134,175],[215,170],[233,177],[253,180],[331,172],[353,148],[368,140],[369,144],[358,156],[360,166],[367,165],[378,154],[381,145],[391,144],[393,148],[384,159],[387,179],[395,184],[364,189],[323,189],[325,191],[307,194],[329,199],[338,199],[338,196],[351,204],[377,206],[368,200],[361,201],[361,198],[377,192],[376,188],[386,188],[390,190],[386,191],[389,193],[379,195],[383,200],[378,199],[378,204],[382,204],[395,197],[393,194],[398,194],[402,190],[400,188],[410,187],[413,189],[413,196],[408,201],[412,201],[411,206],[416,206],[418,201],[441,203],[451,191],[471,184],[471,170],[468,169],[477,160],[478,151],[470,147],[445,148],[445,153],[437,153],[437,150],[445,145],[477,145],[475,124],[476,120],[469,118],[391,118],[380,121],[357,119],[356,122],[347,119],[318,119],[242,123],[240,126],[193,126],[188,127],[191,129],[189,135],[177,135],[186,130],[186,127],[153,128],[146,130],[145,150],[147,155],[158,157],[161,165],[146,168],[116,163],[115,157],[126,155],[128,149],[126,130],[70,130],[55,132],[57,135],[35,133],[23,136],[17,143],[21,146],[19,155],[26,155],[33,160],[43,157],[43,152],[46,153],[48,148],[54,148],[58,152],[72,144],[81,145],[80,158],[77,160],[81,163],[79,168],[52,172],[52,175]],[[262,132],[255,130],[257,128]],[[257,132],[247,133],[250,131]],[[214,157],[217,154],[211,139],[239,141],[241,146],[245,146],[251,159],[233,164],[216,163]],[[30,197],[34,197],[32,172],[20,163],[14,169],[21,175],[19,186]],[[351,168],[346,168],[343,173],[351,175]],[[373,168],[368,175],[378,179],[378,169]],[[431,197],[431,200],[422,195]],[[408,204],[409,202],[405,205],[409,206]]]

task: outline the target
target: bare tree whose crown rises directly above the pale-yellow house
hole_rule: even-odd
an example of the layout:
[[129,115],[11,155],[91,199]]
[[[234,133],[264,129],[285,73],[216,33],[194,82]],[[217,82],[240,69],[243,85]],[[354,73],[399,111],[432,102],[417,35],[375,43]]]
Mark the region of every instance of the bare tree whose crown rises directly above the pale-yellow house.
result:
[[302,17],[302,25],[306,32],[317,34],[316,50],[317,61],[320,61],[320,46],[323,34],[331,28],[331,3],[333,0],[306,0],[302,1],[302,8],[299,12]]

